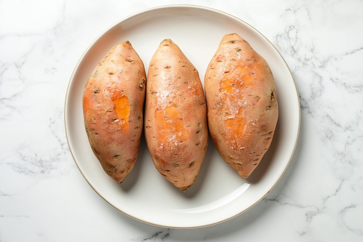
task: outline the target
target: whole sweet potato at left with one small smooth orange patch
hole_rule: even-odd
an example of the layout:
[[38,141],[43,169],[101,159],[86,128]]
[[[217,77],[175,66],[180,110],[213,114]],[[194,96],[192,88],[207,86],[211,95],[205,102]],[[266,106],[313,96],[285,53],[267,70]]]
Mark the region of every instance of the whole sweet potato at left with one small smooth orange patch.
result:
[[83,92],[91,148],[118,183],[131,172],[143,127],[146,73],[129,41],[114,46],[95,67]]

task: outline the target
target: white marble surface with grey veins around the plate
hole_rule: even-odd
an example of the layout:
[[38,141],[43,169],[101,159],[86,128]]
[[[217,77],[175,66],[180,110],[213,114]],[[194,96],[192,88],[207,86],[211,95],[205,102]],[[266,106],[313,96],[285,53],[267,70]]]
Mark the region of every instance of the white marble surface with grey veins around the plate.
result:
[[[301,130],[287,171],[244,214],[164,229],[87,184],[64,130],[66,87],[103,30],[145,8],[220,9],[264,34],[290,66]],[[0,2],[0,241],[363,241],[363,1]]]

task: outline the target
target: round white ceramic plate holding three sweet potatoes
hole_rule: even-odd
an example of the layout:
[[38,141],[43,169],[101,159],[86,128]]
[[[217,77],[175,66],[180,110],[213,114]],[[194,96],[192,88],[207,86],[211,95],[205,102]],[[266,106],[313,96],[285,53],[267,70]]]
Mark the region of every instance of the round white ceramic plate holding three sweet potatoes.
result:
[[[146,68],[165,38],[171,38],[195,65],[203,83],[208,63],[224,34],[238,33],[269,63],[276,81],[279,118],[272,144],[248,179],[238,176],[209,140],[195,182],[183,193],[156,171],[144,138],[136,165],[122,185],[101,168],[83,123],[82,94],[90,73],[115,45],[129,40]],[[147,71],[147,70],[146,70]],[[65,100],[65,128],[70,151],[92,188],[116,209],[152,225],[194,228],[226,221],[251,208],[276,185],[298,139],[300,106],[294,79],[280,53],[246,22],[215,9],[170,5],[121,20],[85,51],[70,78]]]

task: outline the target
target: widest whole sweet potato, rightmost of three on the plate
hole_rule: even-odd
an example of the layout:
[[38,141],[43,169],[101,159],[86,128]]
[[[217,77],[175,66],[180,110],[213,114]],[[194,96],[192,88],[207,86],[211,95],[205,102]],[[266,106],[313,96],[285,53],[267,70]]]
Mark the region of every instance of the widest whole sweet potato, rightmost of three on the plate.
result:
[[227,34],[208,65],[204,87],[213,143],[246,178],[270,147],[277,123],[270,67],[238,34]]

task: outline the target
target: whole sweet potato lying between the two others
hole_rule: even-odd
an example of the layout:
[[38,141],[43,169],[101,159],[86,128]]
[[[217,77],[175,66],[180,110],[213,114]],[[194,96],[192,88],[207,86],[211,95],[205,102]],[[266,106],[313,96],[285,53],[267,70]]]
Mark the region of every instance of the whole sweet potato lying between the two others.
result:
[[156,169],[187,190],[208,145],[207,108],[198,71],[169,39],[161,42],[150,62],[144,126]]

